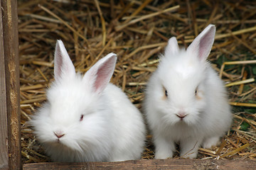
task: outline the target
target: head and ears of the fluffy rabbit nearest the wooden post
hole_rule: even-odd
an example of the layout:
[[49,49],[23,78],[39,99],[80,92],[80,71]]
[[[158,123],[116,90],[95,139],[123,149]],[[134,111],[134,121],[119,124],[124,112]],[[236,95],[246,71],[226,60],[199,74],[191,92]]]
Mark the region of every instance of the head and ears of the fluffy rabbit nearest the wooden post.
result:
[[56,149],[60,154],[67,149],[70,154],[74,150],[82,153],[106,140],[109,121],[104,113],[112,111],[105,106],[107,99],[102,98],[102,94],[112,77],[116,60],[117,56],[110,53],[82,77],[75,73],[63,42],[57,41],[55,81],[47,91],[48,102],[31,120],[36,137],[48,153]]

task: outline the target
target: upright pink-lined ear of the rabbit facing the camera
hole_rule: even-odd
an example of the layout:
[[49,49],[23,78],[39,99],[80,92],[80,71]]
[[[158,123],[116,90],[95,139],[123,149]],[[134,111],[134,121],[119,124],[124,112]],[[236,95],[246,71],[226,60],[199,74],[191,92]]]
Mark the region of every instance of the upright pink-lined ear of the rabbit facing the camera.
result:
[[214,36],[215,26],[210,24],[193,40],[191,45],[189,45],[187,49],[188,54],[197,55],[201,61],[206,60],[213,47]]

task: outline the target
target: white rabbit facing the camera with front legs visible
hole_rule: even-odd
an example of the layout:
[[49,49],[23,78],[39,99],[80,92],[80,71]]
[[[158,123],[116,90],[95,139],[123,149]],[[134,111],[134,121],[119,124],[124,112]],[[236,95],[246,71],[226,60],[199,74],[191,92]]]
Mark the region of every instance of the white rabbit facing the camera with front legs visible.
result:
[[196,158],[198,147],[217,145],[232,123],[223,81],[206,61],[215,36],[209,25],[189,45],[179,49],[171,38],[159,67],[146,87],[144,111],[153,133],[155,158]]

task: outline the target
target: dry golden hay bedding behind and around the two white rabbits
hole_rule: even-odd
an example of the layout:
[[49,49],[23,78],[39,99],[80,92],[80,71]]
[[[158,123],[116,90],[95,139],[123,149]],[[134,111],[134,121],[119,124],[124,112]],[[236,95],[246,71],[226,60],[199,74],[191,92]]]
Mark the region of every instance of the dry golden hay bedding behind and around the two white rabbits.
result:
[[[18,1],[23,163],[50,161],[26,121],[46,101],[56,40],[63,40],[82,73],[109,52],[117,53],[112,83],[141,109],[146,81],[167,40],[176,36],[187,47],[209,23],[217,35],[208,60],[229,85],[230,103],[241,106],[233,107],[233,125],[220,146],[200,149],[198,159],[255,159],[255,16],[256,1],[242,0]],[[153,151],[149,134],[142,158],[153,159]]]

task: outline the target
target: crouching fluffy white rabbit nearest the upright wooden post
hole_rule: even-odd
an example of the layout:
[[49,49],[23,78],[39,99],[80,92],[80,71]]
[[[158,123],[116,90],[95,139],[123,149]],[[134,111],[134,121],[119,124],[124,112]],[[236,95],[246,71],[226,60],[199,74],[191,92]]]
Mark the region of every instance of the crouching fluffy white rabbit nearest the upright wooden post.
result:
[[82,77],[58,40],[55,81],[48,101],[31,120],[53,162],[116,162],[139,159],[145,126],[139,110],[109,81],[117,56],[110,53]]

